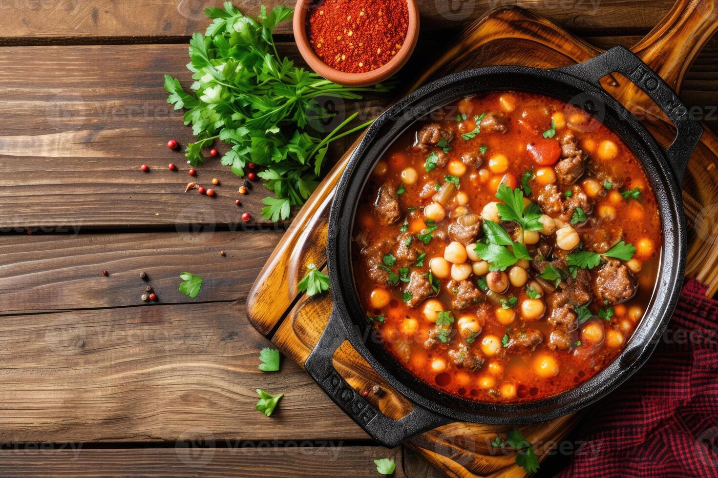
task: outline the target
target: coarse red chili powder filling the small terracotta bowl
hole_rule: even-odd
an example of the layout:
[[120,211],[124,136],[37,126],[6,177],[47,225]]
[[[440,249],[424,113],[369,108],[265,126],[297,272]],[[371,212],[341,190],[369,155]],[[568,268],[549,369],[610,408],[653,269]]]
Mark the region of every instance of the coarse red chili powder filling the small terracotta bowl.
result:
[[391,60],[406,39],[406,0],[322,0],[309,8],[309,43],[335,70],[363,73]]

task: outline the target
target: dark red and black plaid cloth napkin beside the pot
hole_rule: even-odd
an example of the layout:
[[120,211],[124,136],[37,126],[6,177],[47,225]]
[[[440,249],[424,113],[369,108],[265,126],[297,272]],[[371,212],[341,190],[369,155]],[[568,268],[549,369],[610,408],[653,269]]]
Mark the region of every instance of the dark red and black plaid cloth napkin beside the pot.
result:
[[584,420],[561,476],[718,477],[718,301],[705,292],[686,282],[651,359]]

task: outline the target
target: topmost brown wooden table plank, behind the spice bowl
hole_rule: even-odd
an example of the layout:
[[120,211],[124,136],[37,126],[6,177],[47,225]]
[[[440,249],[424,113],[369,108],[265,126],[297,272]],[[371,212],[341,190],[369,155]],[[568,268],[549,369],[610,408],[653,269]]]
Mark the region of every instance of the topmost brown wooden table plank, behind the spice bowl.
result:
[[[258,14],[259,5],[269,9],[277,4],[293,7],[294,1],[236,1],[246,14]],[[513,2],[496,0],[419,0],[423,32],[457,32],[497,6]],[[219,6],[219,0],[57,0],[8,1],[2,5],[4,25],[0,44],[65,42],[163,42],[185,39],[204,31],[209,21],[205,6]],[[671,0],[523,0],[521,6],[579,34],[590,32],[647,32],[671,7]],[[52,21],[47,21],[51,17]],[[279,34],[291,34],[291,22],[280,24]]]

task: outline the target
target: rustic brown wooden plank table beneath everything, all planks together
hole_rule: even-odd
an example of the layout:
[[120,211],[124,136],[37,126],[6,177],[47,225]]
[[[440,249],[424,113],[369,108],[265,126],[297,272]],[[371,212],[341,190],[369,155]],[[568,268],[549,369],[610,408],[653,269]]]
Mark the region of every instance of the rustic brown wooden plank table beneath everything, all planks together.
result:
[[[0,0],[2,476],[356,477],[376,476],[382,457],[395,476],[438,475],[409,450],[375,446],[291,360],[257,369],[269,342],[246,321],[246,295],[286,224],[261,220],[258,183],[238,209],[241,181],[219,161],[198,168],[220,179],[218,197],[185,195],[184,156],[164,146],[191,132],[162,75],[189,79],[188,39],[208,24],[202,8],[220,3]],[[673,1],[518,3],[610,47],[633,44]],[[419,4],[404,78],[503,2]],[[257,1],[236,6],[258,13]],[[279,32],[298,59],[291,26]],[[714,131],[717,57],[713,40],[681,92]],[[370,118],[390,100],[347,106]],[[205,279],[195,300],[177,290],[185,270]],[[148,284],[157,302],[141,301]],[[271,418],[255,388],[284,391]]]

